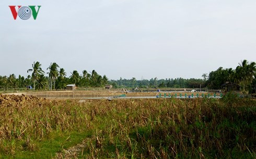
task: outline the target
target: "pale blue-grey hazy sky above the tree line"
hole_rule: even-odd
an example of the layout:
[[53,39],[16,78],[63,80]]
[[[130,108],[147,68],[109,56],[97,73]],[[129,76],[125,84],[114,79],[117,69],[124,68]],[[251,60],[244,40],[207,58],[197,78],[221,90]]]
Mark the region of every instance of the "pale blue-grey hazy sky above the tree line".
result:
[[[40,5],[14,20],[10,5]],[[109,79],[202,78],[256,61],[255,0],[1,0],[0,75],[34,61]]]

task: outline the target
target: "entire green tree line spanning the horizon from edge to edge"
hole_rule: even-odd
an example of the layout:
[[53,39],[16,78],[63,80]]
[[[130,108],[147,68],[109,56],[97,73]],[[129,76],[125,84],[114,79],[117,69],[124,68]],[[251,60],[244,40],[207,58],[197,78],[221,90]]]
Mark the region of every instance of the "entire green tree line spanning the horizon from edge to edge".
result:
[[[255,92],[256,90],[256,63],[243,60],[238,63],[235,69],[222,67],[209,74],[204,73],[203,79],[184,79],[184,78],[166,78],[166,79],[142,79],[137,80],[123,79],[110,80],[106,75],[99,75],[95,70],[88,73],[86,70],[79,74],[76,70],[71,72],[71,76],[67,77],[63,68],[55,62],[51,63],[47,68],[47,73],[42,70],[39,62],[34,62],[32,68],[27,72],[31,73],[26,78],[24,76],[16,76],[14,74],[0,76],[0,88],[24,88],[33,86],[33,89],[65,89],[67,84],[75,84],[78,87],[104,87],[106,84],[112,84],[114,88],[204,88],[222,89],[222,84],[232,82],[242,87],[242,90]],[[46,75],[46,76],[45,76]]]

